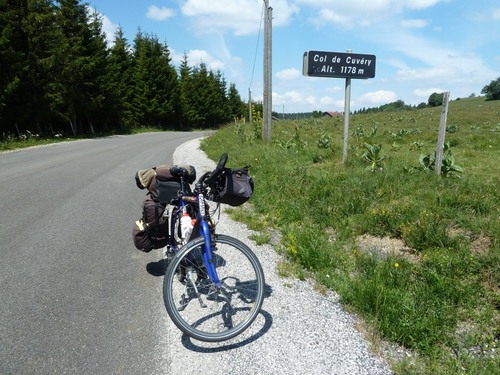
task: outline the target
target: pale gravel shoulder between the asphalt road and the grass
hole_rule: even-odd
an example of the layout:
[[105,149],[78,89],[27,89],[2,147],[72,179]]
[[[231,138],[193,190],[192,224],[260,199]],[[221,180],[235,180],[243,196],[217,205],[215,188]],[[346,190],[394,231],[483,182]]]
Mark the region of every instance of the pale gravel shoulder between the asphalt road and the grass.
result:
[[[174,163],[194,165],[201,176],[215,163],[199,149],[199,142],[181,145],[174,153]],[[343,309],[335,293],[319,294],[308,281],[278,276],[280,256],[275,249],[257,246],[248,239],[252,232],[224,212],[217,229],[254,250],[269,293],[252,326],[223,343],[185,337],[167,317],[166,342],[160,344],[160,350],[169,374],[391,374],[387,363],[370,351],[356,329],[356,318]]]

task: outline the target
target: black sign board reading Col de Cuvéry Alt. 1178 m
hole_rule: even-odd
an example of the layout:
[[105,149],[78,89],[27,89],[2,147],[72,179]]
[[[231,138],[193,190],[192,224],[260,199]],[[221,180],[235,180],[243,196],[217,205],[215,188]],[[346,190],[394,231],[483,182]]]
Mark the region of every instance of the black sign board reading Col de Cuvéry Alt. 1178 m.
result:
[[303,75],[310,77],[373,78],[375,55],[309,51],[304,53]]

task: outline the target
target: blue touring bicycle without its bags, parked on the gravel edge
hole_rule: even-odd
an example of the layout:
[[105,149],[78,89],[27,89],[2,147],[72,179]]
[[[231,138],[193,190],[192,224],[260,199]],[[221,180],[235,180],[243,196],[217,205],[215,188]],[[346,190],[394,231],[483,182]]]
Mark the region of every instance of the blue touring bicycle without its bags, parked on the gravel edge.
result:
[[[193,191],[184,183],[188,171],[178,168],[181,190],[171,202],[169,249],[174,256],[165,272],[163,299],[174,324],[186,335],[206,342],[241,334],[256,319],[264,300],[264,272],[257,256],[240,240],[215,234],[216,224],[206,202],[214,199],[226,162],[223,154]],[[219,203],[214,213],[217,209]],[[181,225],[186,217],[192,220],[191,239],[189,227]]]

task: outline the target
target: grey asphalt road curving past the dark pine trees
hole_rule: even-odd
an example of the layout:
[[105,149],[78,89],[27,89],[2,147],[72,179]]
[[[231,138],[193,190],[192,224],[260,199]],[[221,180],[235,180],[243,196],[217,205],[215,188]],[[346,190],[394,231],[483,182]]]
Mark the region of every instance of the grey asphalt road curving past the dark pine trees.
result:
[[132,242],[134,175],[201,135],[0,154],[0,374],[162,373],[163,270]]

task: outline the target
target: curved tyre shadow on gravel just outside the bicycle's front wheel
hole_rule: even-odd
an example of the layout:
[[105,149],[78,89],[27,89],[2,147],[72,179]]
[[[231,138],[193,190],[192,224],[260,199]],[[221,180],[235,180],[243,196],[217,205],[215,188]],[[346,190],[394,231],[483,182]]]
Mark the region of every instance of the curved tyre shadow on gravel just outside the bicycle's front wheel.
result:
[[[271,296],[271,294],[272,294],[272,287],[270,285],[266,284],[264,287],[264,298],[269,298]],[[245,345],[251,344],[254,341],[257,341],[259,338],[264,336],[269,331],[271,326],[273,325],[273,317],[269,312],[267,312],[264,309],[261,309],[259,312],[259,315],[262,315],[264,317],[264,322],[262,323],[262,327],[256,333],[254,333],[252,336],[247,337],[240,342],[234,342],[234,340],[237,339],[237,337],[235,339],[232,339],[231,340],[232,342],[230,344],[224,344],[224,343],[220,343],[220,342],[215,342],[215,343],[202,342],[202,341],[194,340],[191,337],[189,337],[188,335],[183,334],[182,338],[181,338],[182,345],[186,349],[191,350],[193,352],[198,352],[198,353],[218,353],[218,352],[222,352],[222,351],[241,348]],[[256,319],[252,323],[252,325],[250,326],[249,329],[251,329],[252,327],[254,327],[254,329],[255,329],[255,325],[258,322],[259,322],[259,319]],[[243,332],[243,335],[244,335],[244,332]],[[199,343],[199,344],[197,344],[197,343]]]

